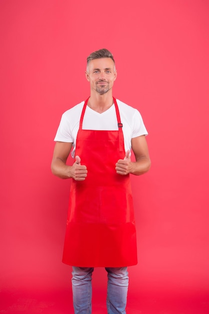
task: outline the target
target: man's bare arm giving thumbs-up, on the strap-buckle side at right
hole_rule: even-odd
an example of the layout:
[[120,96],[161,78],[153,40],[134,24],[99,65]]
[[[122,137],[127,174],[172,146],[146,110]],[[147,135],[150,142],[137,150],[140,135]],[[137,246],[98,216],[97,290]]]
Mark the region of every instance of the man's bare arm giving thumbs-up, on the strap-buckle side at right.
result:
[[116,172],[119,175],[133,174],[143,175],[150,169],[149,151],[144,135],[137,136],[131,140],[132,150],[135,155],[135,162],[131,162],[130,151],[126,151],[125,158],[116,163]]

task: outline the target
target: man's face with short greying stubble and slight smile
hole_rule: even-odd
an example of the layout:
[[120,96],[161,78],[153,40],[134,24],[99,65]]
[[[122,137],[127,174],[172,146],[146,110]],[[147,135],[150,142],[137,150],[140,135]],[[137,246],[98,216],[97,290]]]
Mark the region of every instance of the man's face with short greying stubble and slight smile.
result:
[[86,79],[90,82],[91,90],[100,95],[107,93],[116,80],[117,72],[111,58],[101,58],[89,62]]

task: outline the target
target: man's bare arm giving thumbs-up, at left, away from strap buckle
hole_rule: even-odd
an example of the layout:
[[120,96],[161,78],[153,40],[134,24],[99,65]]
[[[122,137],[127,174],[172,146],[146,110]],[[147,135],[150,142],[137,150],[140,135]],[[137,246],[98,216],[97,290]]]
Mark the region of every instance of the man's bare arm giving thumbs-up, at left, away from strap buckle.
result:
[[72,166],[66,165],[71,148],[72,143],[56,142],[51,164],[52,173],[61,179],[73,178],[83,181],[87,176],[87,169],[81,165],[79,156],[76,156],[76,162]]

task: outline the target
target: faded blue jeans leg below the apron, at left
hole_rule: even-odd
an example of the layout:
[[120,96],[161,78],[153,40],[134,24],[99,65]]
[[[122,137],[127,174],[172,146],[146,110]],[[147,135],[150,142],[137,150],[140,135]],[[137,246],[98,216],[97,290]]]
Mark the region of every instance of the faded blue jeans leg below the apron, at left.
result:
[[75,267],[72,271],[73,306],[75,314],[91,314],[93,267]]

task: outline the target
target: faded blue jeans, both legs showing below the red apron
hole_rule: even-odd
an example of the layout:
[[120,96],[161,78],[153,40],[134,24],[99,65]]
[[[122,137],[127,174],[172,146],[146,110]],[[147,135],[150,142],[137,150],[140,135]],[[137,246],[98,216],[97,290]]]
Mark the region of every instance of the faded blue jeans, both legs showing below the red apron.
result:
[[[128,292],[127,267],[105,267],[107,271],[107,312],[125,314]],[[73,306],[75,314],[91,314],[93,267],[75,267],[72,271]]]

